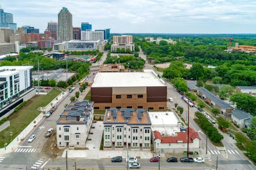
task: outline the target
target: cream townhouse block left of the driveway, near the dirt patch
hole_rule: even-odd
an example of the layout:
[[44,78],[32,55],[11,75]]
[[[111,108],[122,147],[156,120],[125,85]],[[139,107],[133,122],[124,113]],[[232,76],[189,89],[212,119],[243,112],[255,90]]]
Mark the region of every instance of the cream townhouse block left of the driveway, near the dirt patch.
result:
[[93,101],[72,101],[56,121],[59,148],[85,148],[93,122]]

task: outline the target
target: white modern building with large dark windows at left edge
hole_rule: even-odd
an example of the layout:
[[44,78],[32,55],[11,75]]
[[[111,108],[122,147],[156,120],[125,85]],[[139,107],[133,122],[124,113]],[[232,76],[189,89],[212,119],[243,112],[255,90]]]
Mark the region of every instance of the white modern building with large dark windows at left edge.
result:
[[32,88],[33,66],[0,67],[0,106]]

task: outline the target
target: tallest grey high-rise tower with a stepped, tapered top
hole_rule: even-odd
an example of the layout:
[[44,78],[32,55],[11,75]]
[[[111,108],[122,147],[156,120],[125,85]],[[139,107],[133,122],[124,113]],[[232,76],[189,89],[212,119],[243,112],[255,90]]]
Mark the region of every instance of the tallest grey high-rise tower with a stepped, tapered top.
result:
[[73,39],[72,14],[63,7],[58,14],[57,40],[59,42]]

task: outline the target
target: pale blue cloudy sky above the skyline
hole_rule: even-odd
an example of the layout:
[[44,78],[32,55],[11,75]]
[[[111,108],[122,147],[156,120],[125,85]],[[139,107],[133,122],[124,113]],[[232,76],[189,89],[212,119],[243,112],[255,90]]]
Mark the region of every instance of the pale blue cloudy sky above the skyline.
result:
[[73,15],[73,27],[112,33],[256,33],[255,0],[1,0],[18,27],[43,32],[57,21],[62,7]]

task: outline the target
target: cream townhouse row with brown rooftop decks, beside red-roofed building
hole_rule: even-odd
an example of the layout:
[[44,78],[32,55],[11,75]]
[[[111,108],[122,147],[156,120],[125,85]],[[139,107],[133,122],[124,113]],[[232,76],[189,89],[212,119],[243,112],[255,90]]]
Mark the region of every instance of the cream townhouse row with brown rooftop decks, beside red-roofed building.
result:
[[104,150],[148,150],[151,146],[151,122],[145,109],[106,109]]

